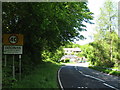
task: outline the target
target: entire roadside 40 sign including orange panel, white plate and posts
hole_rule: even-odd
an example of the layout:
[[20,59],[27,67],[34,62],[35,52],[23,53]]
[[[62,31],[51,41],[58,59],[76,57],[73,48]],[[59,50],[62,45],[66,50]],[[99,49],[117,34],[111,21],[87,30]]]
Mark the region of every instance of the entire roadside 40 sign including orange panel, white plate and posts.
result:
[[13,78],[15,79],[15,54],[19,55],[19,80],[21,80],[21,54],[23,53],[23,35],[22,34],[4,34],[3,35],[5,66],[6,54],[13,55]]

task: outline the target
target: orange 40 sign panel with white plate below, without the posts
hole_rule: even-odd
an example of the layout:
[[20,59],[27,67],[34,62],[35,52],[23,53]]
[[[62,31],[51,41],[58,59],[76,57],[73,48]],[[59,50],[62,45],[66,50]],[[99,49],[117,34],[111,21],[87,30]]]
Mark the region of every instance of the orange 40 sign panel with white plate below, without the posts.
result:
[[21,34],[4,34],[4,54],[22,54],[23,35]]

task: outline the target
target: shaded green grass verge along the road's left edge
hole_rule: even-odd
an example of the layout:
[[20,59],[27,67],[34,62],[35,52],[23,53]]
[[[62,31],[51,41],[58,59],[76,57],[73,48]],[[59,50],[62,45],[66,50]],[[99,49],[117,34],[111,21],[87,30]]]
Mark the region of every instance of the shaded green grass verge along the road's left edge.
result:
[[30,75],[15,83],[12,88],[58,88],[59,68],[59,64],[51,62],[41,64]]

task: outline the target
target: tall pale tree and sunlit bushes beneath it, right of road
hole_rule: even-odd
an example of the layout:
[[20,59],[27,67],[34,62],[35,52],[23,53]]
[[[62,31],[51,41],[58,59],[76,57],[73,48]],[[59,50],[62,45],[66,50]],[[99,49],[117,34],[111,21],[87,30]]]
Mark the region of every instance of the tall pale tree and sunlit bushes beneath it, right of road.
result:
[[[119,64],[117,29],[117,9],[115,3],[106,0],[104,7],[100,8],[100,16],[96,21],[95,41],[90,43],[92,49],[88,51],[91,64],[96,66],[114,67]],[[90,56],[89,56],[90,55]]]

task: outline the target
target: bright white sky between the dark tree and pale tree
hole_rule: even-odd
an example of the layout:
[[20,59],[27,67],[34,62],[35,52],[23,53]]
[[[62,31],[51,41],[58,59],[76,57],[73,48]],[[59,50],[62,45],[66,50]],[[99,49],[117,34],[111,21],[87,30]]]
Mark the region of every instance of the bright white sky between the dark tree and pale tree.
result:
[[[118,2],[120,0],[113,0],[113,1]],[[88,8],[90,9],[91,12],[94,13],[93,15],[94,19],[92,20],[93,23],[95,23],[95,20],[99,16],[100,8],[103,6],[104,2],[105,0],[88,0]],[[94,41],[93,34],[95,33],[95,24],[85,23],[85,25],[87,26],[86,28],[87,31],[82,31],[80,32],[80,34],[84,35],[87,39],[75,41],[76,44],[85,45],[87,43]]]

